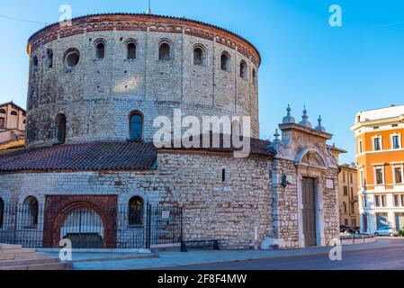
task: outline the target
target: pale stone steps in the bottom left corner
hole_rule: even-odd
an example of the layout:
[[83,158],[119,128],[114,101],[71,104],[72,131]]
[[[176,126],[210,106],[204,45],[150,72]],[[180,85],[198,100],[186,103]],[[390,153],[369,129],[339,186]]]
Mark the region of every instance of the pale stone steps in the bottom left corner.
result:
[[33,248],[0,244],[0,270],[66,270],[71,267],[71,262],[49,258],[47,253],[37,253]]

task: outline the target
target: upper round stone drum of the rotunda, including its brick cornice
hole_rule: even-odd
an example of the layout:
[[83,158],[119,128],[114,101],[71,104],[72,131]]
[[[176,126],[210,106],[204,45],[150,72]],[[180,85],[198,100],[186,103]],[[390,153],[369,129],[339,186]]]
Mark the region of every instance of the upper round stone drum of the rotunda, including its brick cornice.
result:
[[[206,23],[149,14],[99,14],[58,23],[28,43],[28,147],[153,139],[157,116],[250,116],[258,138],[260,55],[238,35]],[[135,137],[136,138],[136,137]]]

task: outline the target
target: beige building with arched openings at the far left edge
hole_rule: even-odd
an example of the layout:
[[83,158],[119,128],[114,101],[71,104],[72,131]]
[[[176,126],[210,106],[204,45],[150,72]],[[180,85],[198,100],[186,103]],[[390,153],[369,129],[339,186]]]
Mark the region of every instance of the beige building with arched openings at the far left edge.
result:
[[0,150],[25,144],[26,112],[13,102],[0,104]]

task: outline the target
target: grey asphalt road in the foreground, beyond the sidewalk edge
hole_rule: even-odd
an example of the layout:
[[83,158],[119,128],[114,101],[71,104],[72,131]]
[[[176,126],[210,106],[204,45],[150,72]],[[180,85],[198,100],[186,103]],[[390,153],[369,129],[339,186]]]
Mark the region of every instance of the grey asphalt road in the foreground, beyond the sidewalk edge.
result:
[[159,270],[404,270],[404,247],[343,251],[341,261],[331,261],[328,255],[323,254],[176,266]]

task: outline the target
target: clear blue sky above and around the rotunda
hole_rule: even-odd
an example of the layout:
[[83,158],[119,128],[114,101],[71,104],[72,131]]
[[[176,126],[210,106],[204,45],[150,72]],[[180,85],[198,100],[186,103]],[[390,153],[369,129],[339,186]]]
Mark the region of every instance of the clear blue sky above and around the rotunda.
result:
[[[58,7],[70,4],[73,16],[144,13],[148,0],[0,0],[0,14],[43,23],[58,22]],[[343,9],[343,27],[328,25],[328,7]],[[184,16],[234,31],[262,54],[260,69],[261,138],[274,134],[288,103],[301,119],[334,134],[333,142],[355,160],[349,130],[355,113],[404,103],[404,1],[370,0],[152,0],[153,14]],[[42,24],[0,18],[0,102],[25,107],[26,40]],[[332,142],[330,143],[332,144]]]

